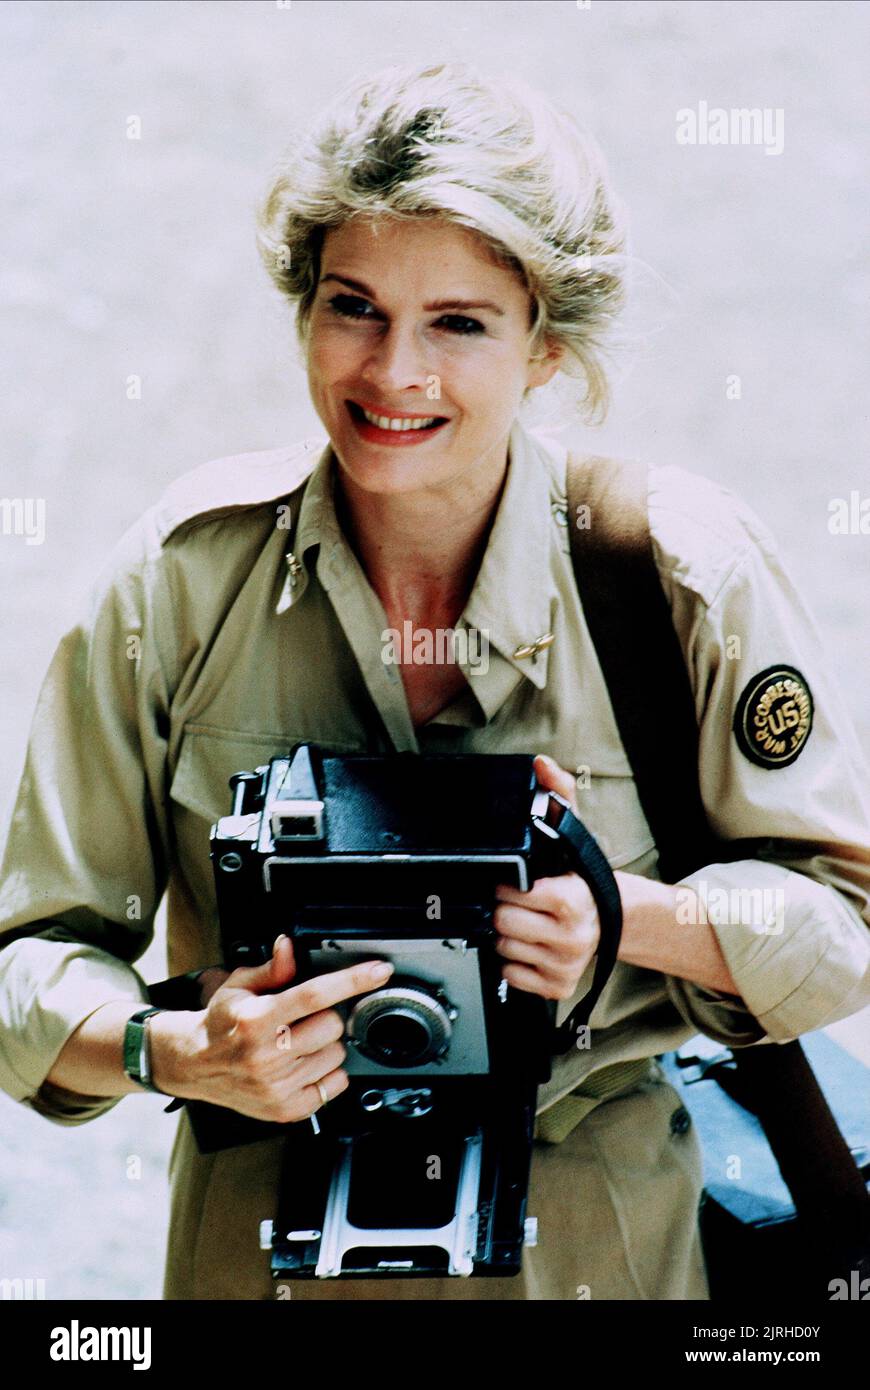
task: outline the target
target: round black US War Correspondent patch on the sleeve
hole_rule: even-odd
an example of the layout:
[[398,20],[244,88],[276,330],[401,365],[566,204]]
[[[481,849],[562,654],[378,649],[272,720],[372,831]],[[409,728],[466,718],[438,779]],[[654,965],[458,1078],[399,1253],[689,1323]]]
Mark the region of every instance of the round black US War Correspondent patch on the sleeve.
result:
[[769,666],[753,676],[734,714],[742,753],[759,767],[787,767],[813,727],[813,696],[794,666]]

